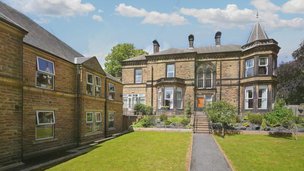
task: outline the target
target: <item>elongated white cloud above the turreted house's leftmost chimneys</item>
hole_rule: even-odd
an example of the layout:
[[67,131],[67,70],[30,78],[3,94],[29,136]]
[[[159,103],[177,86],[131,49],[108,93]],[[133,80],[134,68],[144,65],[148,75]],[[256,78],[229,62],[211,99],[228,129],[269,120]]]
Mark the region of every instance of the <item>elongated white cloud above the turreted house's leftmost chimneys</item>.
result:
[[156,25],[183,25],[186,24],[185,17],[177,13],[160,13],[157,11],[146,11],[123,3],[119,4],[115,11],[125,17],[143,17],[142,23]]

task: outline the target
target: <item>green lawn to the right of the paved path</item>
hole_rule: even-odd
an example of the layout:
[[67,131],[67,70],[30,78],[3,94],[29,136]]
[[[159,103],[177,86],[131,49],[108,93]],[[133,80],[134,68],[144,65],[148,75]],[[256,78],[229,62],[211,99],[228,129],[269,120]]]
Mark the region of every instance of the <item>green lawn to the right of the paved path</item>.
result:
[[268,135],[215,138],[237,171],[304,170],[304,136],[298,140]]

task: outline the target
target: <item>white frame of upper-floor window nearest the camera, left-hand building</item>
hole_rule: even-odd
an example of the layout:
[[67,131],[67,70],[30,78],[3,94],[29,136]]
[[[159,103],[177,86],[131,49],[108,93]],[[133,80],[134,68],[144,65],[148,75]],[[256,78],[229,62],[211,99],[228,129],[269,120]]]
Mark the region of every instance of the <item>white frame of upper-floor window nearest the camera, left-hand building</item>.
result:
[[[53,65],[53,68],[52,68],[53,69],[53,73],[41,70],[40,69],[40,65],[39,65],[39,59],[52,63],[52,65]],[[38,87],[38,88],[42,88],[42,89],[54,90],[55,89],[55,63],[53,61],[50,61],[50,60],[47,60],[45,58],[37,56],[37,58],[36,58],[36,65],[37,65],[37,71],[36,71],[36,76],[35,76],[35,86]],[[52,88],[47,88],[47,87],[43,87],[43,86],[39,86],[38,85],[37,77],[38,77],[39,73],[46,74],[47,76],[52,77]]]

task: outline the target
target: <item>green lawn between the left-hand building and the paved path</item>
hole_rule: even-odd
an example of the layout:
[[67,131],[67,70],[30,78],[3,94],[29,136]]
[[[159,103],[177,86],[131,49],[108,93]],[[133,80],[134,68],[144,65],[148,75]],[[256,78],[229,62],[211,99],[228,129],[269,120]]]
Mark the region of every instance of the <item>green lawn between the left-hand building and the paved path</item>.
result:
[[133,132],[50,170],[186,170],[191,133]]

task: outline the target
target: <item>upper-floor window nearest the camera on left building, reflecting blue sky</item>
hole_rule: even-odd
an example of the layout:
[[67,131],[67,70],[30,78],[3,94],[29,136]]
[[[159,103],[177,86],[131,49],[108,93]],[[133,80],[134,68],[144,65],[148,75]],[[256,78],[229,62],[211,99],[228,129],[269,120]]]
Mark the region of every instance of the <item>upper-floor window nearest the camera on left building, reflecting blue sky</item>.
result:
[[46,89],[54,89],[54,76],[54,63],[37,57],[36,86]]

